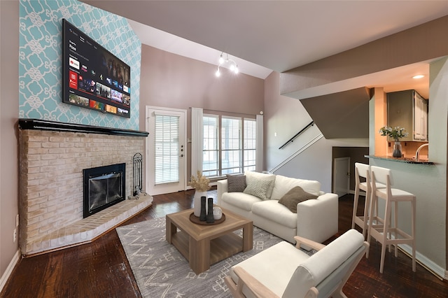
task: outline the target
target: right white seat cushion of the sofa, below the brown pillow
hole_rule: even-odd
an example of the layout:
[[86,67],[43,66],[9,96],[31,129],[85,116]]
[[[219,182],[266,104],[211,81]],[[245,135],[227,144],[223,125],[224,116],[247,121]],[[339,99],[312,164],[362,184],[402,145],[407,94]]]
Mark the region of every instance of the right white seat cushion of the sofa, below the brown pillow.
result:
[[277,200],[258,201],[252,205],[252,213],[280,225],[294,229],[297,227],[297,213],[292,213]]

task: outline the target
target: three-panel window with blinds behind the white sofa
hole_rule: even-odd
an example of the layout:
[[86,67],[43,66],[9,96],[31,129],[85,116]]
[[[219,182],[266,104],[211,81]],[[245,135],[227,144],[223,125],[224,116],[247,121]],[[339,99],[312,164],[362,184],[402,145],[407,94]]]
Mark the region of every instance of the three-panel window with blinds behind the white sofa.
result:
[[204,114],[202,119],[204,176],[255,170],[255,119],[210,114]]

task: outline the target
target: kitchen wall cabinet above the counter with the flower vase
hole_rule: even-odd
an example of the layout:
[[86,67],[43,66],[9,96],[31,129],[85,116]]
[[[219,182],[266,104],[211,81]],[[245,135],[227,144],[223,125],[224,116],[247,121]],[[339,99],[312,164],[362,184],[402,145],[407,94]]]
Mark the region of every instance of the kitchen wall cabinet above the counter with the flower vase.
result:
[[428,141],[428,99],[415,90],[389,92],[387,122],[390,127],[404,127],[409,133],[400,141]]

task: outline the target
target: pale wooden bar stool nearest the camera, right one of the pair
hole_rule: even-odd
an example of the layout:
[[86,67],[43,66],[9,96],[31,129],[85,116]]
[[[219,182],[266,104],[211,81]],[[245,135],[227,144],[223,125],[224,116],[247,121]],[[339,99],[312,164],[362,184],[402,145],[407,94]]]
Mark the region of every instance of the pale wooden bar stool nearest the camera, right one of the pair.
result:
[[[372,200],[371,200],[371,210],[377,208],[377,201],[379,198],[386,201],[384,207],[384,218],[379,216],[371,216],[369,220],[369,229],[367,234],[367,242],[370,243],[370,236],[377,239],[381,243],[381,264],[379,265],[379,272],[382,274],[384,269],[384,255],[386,253],[386,246],[389,245],[389,251],[391,250],[390,245],[395,246],[395,257],[398,255],[398,244],[408,244],[412,247],[412,271],[416,271],[416,260],[415,260],[415,216],[416,216],[416,197],[410,192],[405,192],[404,190],[398,190],[396,188],[391,188],[391,170],[386,168],[381,168],[379,166],[370,167],[372,173],[372,181],[385,183],[386,188],[378,189],[375,183],[372,183]],[[411,209],[411,233],[407,234],[398,228],[398,202],[410,202],[412,205]],[[391,225],[391,209],[394,209],[393,226]],[[366,257],[368,256],[368,250]]]

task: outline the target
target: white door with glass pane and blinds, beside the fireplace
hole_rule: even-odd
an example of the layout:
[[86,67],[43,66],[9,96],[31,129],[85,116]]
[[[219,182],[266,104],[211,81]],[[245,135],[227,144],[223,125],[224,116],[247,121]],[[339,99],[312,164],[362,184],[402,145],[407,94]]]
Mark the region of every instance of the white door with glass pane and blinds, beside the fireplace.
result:
[[186,110],[146,106],[146,192],[186,190]]

